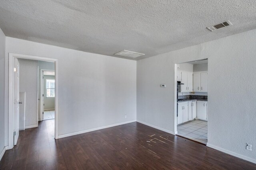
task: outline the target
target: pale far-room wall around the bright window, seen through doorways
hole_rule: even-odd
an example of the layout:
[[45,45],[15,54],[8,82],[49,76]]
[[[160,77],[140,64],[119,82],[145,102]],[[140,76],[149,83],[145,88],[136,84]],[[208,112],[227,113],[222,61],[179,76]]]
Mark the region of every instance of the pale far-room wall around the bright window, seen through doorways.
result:
[[54,109],[55,97],[46,97],[46,79],[55,79],[54,75],[44,75],[44,110]]

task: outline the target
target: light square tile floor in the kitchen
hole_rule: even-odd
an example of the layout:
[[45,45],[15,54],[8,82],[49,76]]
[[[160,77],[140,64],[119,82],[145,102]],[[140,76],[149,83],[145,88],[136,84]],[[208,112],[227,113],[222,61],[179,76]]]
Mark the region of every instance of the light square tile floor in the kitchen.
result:
[[177,126],[178,135],[206,144],[208,126],[206,121],[194,120]]

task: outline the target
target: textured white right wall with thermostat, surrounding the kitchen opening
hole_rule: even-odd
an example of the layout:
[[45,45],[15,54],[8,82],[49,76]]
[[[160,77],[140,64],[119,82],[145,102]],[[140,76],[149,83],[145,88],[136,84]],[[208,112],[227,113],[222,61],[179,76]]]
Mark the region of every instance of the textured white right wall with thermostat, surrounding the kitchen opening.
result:
[[208,58],[208,146],[256,163],[255,40],[251,30],[138,61],[137,120],[176,131],[174,64]]

